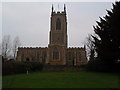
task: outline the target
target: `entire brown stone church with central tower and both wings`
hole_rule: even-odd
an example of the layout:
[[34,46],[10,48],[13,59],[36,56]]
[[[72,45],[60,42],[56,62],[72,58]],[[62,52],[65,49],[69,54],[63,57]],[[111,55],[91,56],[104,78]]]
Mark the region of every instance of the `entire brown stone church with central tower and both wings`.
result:
[[52,6],[50,20],[48,47],[19,47],[17,61],[70,66],[87,64],[85,47],[68,47],[66,6],[63,11],[54,11]]

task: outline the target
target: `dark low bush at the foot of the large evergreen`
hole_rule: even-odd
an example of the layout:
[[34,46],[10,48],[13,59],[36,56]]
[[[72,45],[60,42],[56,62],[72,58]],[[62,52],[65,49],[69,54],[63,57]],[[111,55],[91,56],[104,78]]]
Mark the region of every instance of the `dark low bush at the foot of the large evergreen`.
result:
[[120,63],[110,64],[102,62],[100,59],[91,60],[86,66],[88,71],[95,72],[120,72]]

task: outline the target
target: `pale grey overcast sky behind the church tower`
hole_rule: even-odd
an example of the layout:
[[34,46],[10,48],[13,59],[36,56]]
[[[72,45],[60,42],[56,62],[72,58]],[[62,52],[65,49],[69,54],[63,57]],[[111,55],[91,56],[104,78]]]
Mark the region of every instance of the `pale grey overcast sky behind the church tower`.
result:
[[47,47],[52,4],[55,11],[62,11],[66,4],[69,47],[83,46],[99,17],[112,8],[112,2],[3,2],[2,36],[19,36],[22,46]]

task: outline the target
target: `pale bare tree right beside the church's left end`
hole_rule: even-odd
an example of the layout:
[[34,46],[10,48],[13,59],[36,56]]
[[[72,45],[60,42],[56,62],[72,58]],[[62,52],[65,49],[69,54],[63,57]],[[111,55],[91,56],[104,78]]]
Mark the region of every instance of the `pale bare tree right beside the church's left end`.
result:
[[13,57],[14,57],[14,59],[16,59],[17,50],[18,50],[18,47],[20,45],[21,45],[20,39],[19,39],[18,36],[16,36],[15,39],[13,40],[13,46],[12,46],[12,51],[13,51]]

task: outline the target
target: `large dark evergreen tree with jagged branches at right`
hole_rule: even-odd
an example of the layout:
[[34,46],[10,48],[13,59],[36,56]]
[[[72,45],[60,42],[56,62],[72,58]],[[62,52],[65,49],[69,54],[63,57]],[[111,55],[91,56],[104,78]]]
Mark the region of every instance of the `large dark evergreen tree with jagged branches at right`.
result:
[[120,60],[120,1],[113,4],[111,11],[107,10],[104,18],[100,17],[94,26],[93,36],[97,57],[101,62],[112,66]]

